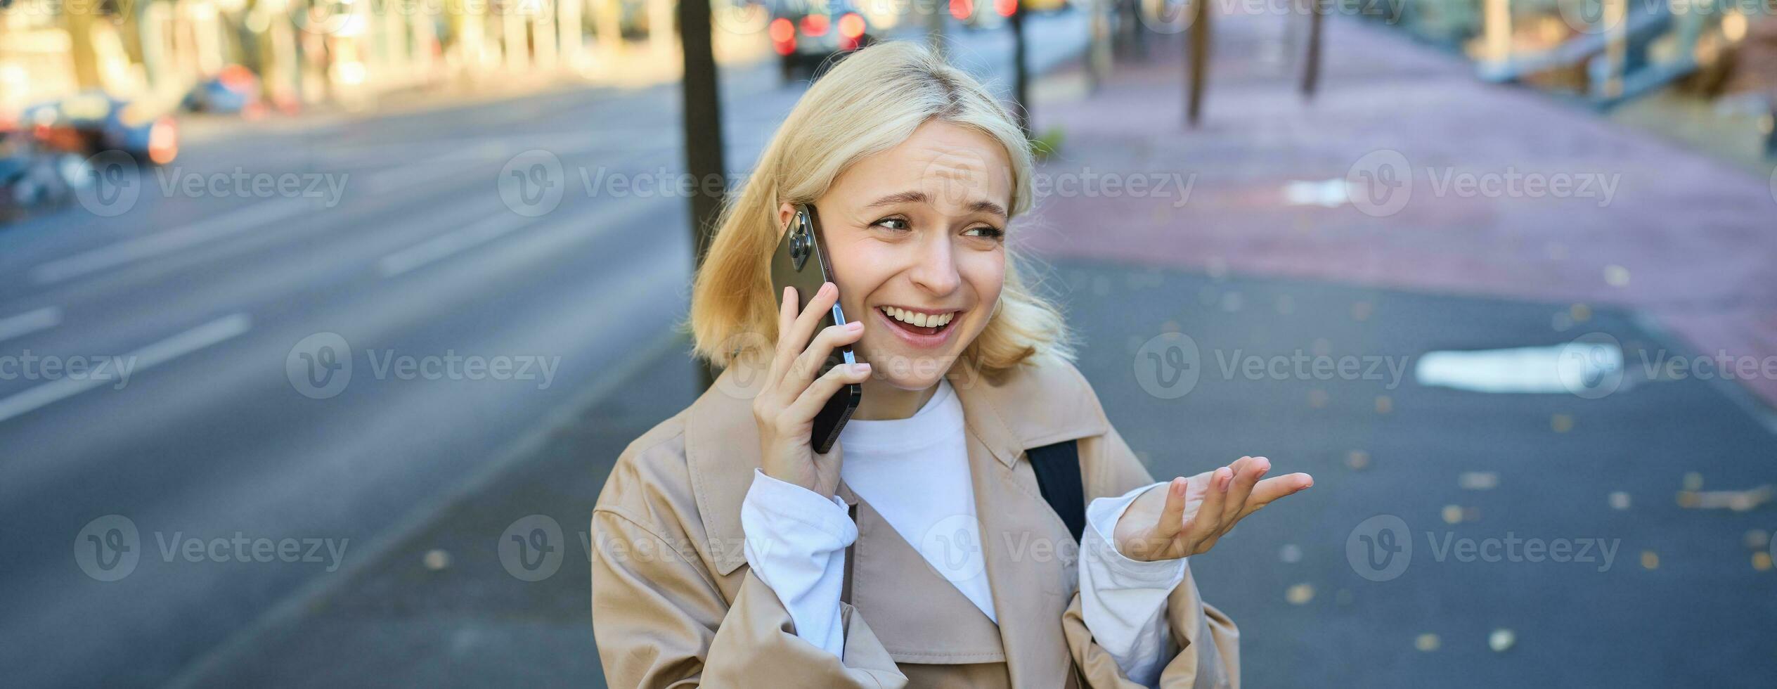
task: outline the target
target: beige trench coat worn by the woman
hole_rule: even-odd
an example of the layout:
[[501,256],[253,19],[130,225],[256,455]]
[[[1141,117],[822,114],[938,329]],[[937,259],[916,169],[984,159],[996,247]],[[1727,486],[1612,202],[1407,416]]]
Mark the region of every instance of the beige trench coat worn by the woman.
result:
[[[734,369],[634,440],[592,513],[592,627],[611,687],[1134,687],[1080,616],[1077,552],[1024,449],[1079,440],[1088,501],[1153,483],[1072,364],[1038,357],[986,380],[947,373],[963,405],[988,620],[867,503],[844,657],[796,636],[746,566],[741,499],[759,467],[752,400]],[[844,453],[842,444],[835,446]],[[1239,685],[1239,632],[1185,581],[1167,598],[1175,648],[1164,687]]]

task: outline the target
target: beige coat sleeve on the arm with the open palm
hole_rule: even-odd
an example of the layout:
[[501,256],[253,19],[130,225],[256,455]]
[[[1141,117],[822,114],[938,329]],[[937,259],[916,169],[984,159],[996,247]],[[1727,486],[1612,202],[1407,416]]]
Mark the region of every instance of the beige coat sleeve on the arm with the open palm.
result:
[[[1102,437],[1080,440],[1080,469],[1086,478],[1088,499],[1120,495],[1153,483],[1148,469],[1141,465],[1116,428]],[[1185,581],[1166,598],[1166,620],[1178,655],[1173,655],[1160,671],[1160,687],[1240,685],[1240,632],[1233,620],[1203,602],[1189,568]],[[1073,664],[1088,687],[1139,687],[1123,675],[1116,659],[1093,641],[1093,632],[1086,629],[1079,593],[1063,613],[1061,625],[1068,638],[1068,650],[1073,653]]]

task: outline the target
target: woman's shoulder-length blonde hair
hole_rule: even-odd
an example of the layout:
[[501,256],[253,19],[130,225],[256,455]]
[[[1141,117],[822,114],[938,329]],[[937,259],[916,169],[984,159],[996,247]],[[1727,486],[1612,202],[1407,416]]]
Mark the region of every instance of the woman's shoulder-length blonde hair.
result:
[[[853,163],[896,147],[933,119],[999,140],[1011,160],[1009,213],[1031,208],[1029,139],[992,92],[919,43],[851,53],[796,101],[739,197],[723,208],[691,286],[686,330],[695,355],[727,368],[737,357],[768,353],[777,341],[769,261],[782,234],[780,204],[814,202]],[[1038,353],[1073,359],[1061,311],[1029,289],[1020,263],[1008,243],[997,313],[963,350],[990,376]]]

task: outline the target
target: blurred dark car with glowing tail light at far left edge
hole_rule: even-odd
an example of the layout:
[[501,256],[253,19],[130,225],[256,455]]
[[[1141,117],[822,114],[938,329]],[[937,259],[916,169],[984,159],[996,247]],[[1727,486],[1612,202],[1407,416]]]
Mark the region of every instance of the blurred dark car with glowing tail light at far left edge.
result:
[[178,123],[165,107],[124,101],[101,91],[85,91],[20,112],[20,124],[37,139],[69,153],[123,151],[144,165],[165,165],[179,154]]

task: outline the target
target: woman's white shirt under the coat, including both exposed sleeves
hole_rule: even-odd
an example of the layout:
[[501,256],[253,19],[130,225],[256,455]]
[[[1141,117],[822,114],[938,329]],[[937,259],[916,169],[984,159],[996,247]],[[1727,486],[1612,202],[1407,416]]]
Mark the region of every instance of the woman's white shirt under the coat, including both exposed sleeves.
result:
[[[981,559],[965,433],[961,401],[949,380],[940,380],[931,400],[906,419],[848,421],[839,433],[841,478],[999,622]],[[1086,508],[1079,584],[1080,613],[1095,641],[1130,680],[1151,687],[1176,653],[1166,629],[1166,598],[1183,581],[1185,559],[1143,563],[1111,545],[1118,519],[1148,488],[1100,497]],[[842,657],[844,549],[858,536],[844,501],[755,471],[741,503],[741,529],[746,563],[789,609],[796,636]]]

